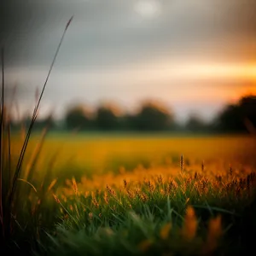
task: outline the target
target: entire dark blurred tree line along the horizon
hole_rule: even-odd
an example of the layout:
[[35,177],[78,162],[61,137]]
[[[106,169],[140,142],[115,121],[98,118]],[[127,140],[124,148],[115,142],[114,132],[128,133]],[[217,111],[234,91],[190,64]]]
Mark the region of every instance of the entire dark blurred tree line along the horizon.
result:
[[[13,128],[29,123],[29,118],[13,123]],[[137,113],[120,113],[119,108],[108,105],[98,106],[90,113],[84,105],[67,109],[62,125],[57,125],[52,116],[38,119],[35,129],[50,126],[52,129],[69,131],[191,131],[241,133],[255,131],[256,96],[242,96],[234,104],[227,104],[211,122],[192,114],[187,122],[180,125],[175,114],[166,106],[156,102],[143,102]]]

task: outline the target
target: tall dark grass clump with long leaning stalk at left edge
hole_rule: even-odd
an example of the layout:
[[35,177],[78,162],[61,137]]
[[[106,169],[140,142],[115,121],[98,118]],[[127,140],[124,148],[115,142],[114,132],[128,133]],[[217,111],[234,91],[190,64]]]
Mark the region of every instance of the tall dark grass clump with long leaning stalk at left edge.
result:
[[[60,43],[55,51],[53,61],[49,67],[49,73],[45,79],[44,86],[41,93],[36,92],[36,104],[32,112],[32,119],[29,122],[27,130],[25,131],[22,125],[22,142],[19,151],[13,154],[13,144],[11,140],[11,123],[12,114],[10,109],[13,107],[13,103],[6,104],[5,102],[5,79],[4,79],[4,48],[1,50],[1,64],[2,64],[2,90],[1,90],[1,101],[0,101],[0,245],[4,253],[7,250],[13,249],[13,247],[20,249],[21,247],[26,248],[23,253],[27,250],[31,251],[31,247],[37,244],[35,240],[39,238],[42,224],[44,227],[48,227],[49,219],[47,214],[49,211],[45,211],[47,203],[45,203],[47,186],[47,180],[49,180],[49,172],[44,172],[44,178],[40,181],[38,189],[31,183],[32,176],[34,175],[34,167],[38,160],[38,154],[44,143],[44,137],[48,127],[45,127],[41,142],[38,144],[38,148],[34,148],[33,155],[30,163],[26,166],[25,173],[22,172],[24,166],[24,158],[26,155],[26,148],[32,135],[32,128],[38,117],[38,110],[41,99],[44,95],[44,90],[49,79],[51,70],[55,64],[55,59],[61,48],[61,44],[67,32],[67,28],[70,25],[73,17],[68,20],[67,25],[62,33]],[[15,92],[14,92],[15,95]],[[14,96],[13,95],[13,96]],[[15,156],[15,158],[14,158]],[[15,167],[14,167],[14,159]],[[25,178],[22,178],[25,177]],[[47,177],[47,178],[45,178]],[[29,185],[37,193],[36,203],[31,198],[31,188],[24,187],[24,184]],[[46,186],[45,186],[46,184]],[[51,183],[49,188],[51,187]],[[22,197],[23,198],[22,198]],[[44,203],[42,204],[42,201]],[[19,241],[17,243],[17,241]]]

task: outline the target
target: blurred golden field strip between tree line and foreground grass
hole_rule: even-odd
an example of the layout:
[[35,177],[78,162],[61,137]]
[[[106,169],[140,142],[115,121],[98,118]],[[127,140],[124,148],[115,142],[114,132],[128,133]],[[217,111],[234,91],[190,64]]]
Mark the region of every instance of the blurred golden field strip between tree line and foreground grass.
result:
[[[42,139],[42,141],[41,141]],[[17,158],[22,140],[13,137]],[[250,136],[168,136],[152,134],[57,134],[34,135],[28,143],[23,169],[31,167],[42,174],[51,166],[54,178],[75,177],[87,189],[96,189],[141,180],[154,174],[168,176],[180,171],[222,174],[230,166],[237,174],[253,165],[254,140]],[[40,150],[38,150],[40,148]],[[24,171],[25,172],[25,171]],[[64,173],[66,172],[66,173]]]

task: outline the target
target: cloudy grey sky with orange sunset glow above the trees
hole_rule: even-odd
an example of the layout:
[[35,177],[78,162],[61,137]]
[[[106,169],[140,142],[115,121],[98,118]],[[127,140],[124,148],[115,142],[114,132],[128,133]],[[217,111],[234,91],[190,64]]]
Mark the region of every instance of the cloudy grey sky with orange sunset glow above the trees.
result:
[[115,102],[166,104],[183,121],[212,119],[256,93],[254,0],[3,0],[1,37],[9,101],[32,113],[67,20],[41,114]]

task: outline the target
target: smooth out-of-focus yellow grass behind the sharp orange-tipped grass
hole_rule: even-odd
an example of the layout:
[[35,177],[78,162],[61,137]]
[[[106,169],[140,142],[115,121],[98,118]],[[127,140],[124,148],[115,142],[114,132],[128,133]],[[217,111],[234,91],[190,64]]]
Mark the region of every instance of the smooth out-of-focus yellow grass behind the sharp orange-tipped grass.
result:
[[[32,155],[39,136],[31,138],[27,147],[24,161],[27,163]],[[179,157],[184,155],[184,161],[193,165],[201,165],[202,160],[207,160],[208,168],[218,168],[219,165],[253,164],[253,157],[245,158],[245,153],[253,152],[251,137],[158,137],[155,135],[140,136],[131,134],[90,134],[59,136],[49,133],[44,141],[44,148],[38,160],[38,170],[57,154],[55,160],[55,173],[62,172],[70,177],[74,175],[79,179],[84,173],[87,176],[105,172],[119,173],[120,166],[126,171],[134,170],[138,165],[168,166],[178,165]],[[12,140],[14,158],[20,152],[22,141],[19,137]],[[208,163],[211,162],[212,166]],[[59,176],[59,175],[57,175]]]

